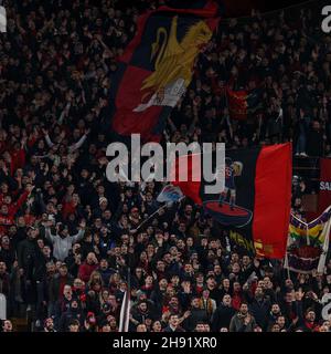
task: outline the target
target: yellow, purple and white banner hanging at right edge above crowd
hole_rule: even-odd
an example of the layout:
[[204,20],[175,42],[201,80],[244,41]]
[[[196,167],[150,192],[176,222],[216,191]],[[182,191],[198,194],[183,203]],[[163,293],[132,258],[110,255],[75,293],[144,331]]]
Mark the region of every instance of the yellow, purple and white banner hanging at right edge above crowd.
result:
[[305,274],[310,274],[313,270],[323,272],[330,243],[330,227],[331,206],[308,223],[291,215],[285,267]]

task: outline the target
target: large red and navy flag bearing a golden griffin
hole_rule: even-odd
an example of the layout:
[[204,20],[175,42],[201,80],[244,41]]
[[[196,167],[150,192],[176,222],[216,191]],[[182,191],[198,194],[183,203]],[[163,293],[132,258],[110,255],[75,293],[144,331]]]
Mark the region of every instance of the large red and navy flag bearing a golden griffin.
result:
[[159,140],[166,119],[189,86],[194,61],[218,22],[213,0],[160,7],[141,15],[134,40],[111,80],[111,129],[116,137],[140,134]]

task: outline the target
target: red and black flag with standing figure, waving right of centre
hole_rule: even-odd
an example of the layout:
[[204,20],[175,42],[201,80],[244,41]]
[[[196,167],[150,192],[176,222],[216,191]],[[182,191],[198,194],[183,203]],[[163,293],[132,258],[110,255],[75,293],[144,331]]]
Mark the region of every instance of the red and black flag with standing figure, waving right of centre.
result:
[[[220,194],[205,194],[203,173],[201,181],[192,178],[193,170],[203,166],[202,155],[177,158],[173,185],[203,206],[247,252],[282,259],[291,205],[291,144],[226,150],[225,157],[225,188]],[[188,181],[177,178],[182,158],[188,158]]]

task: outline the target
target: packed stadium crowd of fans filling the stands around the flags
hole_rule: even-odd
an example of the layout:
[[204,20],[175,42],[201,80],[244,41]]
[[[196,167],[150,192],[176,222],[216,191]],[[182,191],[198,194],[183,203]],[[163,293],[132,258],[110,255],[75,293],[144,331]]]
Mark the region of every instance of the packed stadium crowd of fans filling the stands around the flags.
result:
[[[138,228],[160,207],[162,184],[107,180],[116,59],[139,13],[162,1],[119,2],[4,1],[1,331],[29,316],[31,331],[117,332],[129,283],[134,332],[330,332],[321,311],[331,260],[323,273],[289,273],[282,261],[247,254],[189,199]],[[314,21],[313,8],[221,21],[163,140],[292,140],[300,158],[330,156],[331,40],[314,39]],[[231,119],[228,85],[263,87],[263,110]],[[302,192],[305,183],[293,194],[301,214]]]

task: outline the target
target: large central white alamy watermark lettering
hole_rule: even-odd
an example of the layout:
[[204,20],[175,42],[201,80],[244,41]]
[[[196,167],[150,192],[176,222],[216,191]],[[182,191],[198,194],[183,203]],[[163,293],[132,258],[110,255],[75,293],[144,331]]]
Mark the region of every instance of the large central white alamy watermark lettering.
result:
[[110,157],[106,169],[109,181],[204,180],[206,194],[220,194],[224,189],[223,143],[167,143],[163,148],[158,143],[141,145],[140,135],[132,134],[130,150],[117,142],[108,145],[106,155]]

